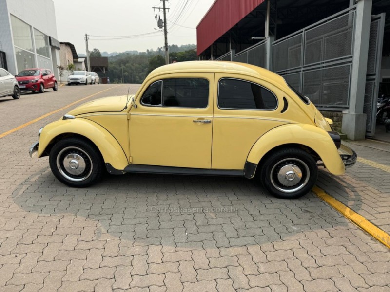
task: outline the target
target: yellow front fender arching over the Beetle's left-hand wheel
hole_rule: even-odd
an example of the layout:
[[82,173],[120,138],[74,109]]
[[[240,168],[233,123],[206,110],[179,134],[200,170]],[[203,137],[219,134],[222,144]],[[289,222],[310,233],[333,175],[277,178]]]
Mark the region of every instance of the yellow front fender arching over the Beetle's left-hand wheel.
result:
[[114,168],[123,170],[129,163],[123,149],[105,128],[87,119],[59,120],[46,125],[39,137],[38,157],[41,157],[47,146],[59,135],[72,133],[91,140],[100,150],[104,162]]

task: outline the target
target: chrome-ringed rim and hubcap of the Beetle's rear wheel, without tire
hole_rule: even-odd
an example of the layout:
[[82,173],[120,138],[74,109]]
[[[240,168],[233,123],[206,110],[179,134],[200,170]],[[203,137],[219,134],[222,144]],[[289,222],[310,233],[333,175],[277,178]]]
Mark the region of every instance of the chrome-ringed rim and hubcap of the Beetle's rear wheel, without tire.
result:
[[286,158],[276,163],[271,170],[271,183],[281,192],[293,193],[309,181],[308,165],[300,159]]

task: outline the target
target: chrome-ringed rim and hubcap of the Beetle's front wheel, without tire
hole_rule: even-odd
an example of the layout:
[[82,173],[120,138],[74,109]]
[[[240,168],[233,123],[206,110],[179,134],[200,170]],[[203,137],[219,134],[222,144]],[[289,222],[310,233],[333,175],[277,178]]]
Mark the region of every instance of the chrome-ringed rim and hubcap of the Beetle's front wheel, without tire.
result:
[[57,156],[57,168],[61,175],[73,182],[87,179],[93,169],[91,157],[78,147],[66,147]]

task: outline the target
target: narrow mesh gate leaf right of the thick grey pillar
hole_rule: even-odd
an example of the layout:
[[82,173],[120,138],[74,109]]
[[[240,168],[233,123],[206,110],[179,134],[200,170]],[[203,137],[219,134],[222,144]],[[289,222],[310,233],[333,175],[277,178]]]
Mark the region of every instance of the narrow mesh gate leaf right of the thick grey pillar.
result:
[[366,136],[374,137],[376,110],[379,93],[382,62],[382,43],[385,28],[385,13],[371,18],[369,54],[367,59],[366,89],[364,92],[363,113],[367,115]]

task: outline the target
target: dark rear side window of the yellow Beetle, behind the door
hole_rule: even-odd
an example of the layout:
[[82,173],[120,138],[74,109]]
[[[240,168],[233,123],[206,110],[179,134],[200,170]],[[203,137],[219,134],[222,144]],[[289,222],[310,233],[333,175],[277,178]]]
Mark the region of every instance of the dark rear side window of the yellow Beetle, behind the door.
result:
[[224,78],[218,84],[218,107],[231,110],[275,110],[277,99],[271,91],[258,84]]

